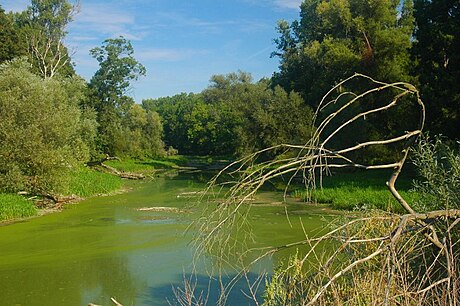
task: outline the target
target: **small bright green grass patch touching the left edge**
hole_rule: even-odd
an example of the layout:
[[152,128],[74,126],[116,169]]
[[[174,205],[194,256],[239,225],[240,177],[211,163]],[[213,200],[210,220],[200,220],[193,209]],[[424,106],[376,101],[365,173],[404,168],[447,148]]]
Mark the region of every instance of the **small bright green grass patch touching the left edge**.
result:
[[35,216],[37,209],[32,201],[15,194],[0,193],[0,221]]

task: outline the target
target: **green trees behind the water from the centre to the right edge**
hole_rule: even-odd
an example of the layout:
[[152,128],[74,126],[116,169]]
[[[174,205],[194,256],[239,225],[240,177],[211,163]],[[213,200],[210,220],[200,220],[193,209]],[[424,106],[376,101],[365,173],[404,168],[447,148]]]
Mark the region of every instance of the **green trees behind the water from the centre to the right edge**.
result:
[[[355,72],[414,84],[427,107],[426,129],[460,138],[458,2],[306,0],[300,19],[279,21],[278,32],[272,56],[280,66],[271,79],[253,84],[245,73],[217,75],[200,94],[143,101],[146,110],[160,114],[165,143],[185,154],[230,155],[303,144],[322,96]],[[365,86],[354,83],[343,92]],[[368,103],[377,106],[388,98],[375,95]],[[379,116],[344,137],[351,143],[382,139],[418,120],[404,107]]]

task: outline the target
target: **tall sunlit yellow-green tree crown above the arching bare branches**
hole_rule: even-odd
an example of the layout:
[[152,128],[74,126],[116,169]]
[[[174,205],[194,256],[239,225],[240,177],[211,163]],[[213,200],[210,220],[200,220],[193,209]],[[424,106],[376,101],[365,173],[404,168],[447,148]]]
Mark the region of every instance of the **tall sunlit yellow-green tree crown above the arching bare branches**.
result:
[[411,0],[305,0],[300,20],[278,23],[280,71],[274,84],[316,106],[330,86],[354,72],[408,79]]

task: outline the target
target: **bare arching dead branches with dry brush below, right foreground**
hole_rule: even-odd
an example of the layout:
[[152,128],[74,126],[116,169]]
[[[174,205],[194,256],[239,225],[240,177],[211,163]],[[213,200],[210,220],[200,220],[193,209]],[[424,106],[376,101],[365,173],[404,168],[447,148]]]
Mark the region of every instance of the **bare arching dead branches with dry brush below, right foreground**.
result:
[[[342,90],[347,87],[347,82],[363,80],[369,82],[368,88],[358,92]],[[378,107],[364,110],[355,107],[366,103],[368,96],[376,92],[391,94],[393,98]],[[390,138],[363,139],[358,143],[334,146],[337,143],[333,139],[340,137],[341,131],[371,114],[388,112],[407,105],[408,101],[418,109],[419,117],[418,124],[411,129]],[[196,222],[198,254],[206,252],[215,256],[219,271],[230,259],[238,258],[243,265],[232,266],[238,271],[238,276],[232,280],[234,283],[264,258],[282,250],[299,248],[301,255],[292,259],[287,268],[276,272],[268,285],[268,305],[410,304],[412,301],[415,304],[450,305],[458,301],[456,241],[459,235],[456,226],[460,223],[460,210],[420,214],[395,187],[409,147],[422,133],[424,114],[419,92],[411,84],[385,83],[360,74],[337,84],[318,105],[315,113],[317,128],[308,143],[301,148],[279,145],[261,150],[234,162],[211,180],[202,197],[203,201],[209,201],[209,205],[204,216]],[[364,124],[360,126],[366,128]],[[360,132],[354,129],[354,133]],[[359,153],[354,154],[373,146],[398,143],[403,143],[399,146],[401,153],[384,163],[365,163],[363,160],[372,159],[362,159]],[[276,148],[300,153],[290,158],[260,161],[261,154]],[[372,210],[361,214],[358,211],[333,224],[328,233],[319,237],[305,235],[304,239],[286,245],[251,250],[260,251],[260,255],[244,264],[250,253],[246,246],[254,238],[248,212],[258,190],[277,179],[287,181],[288,187],[301,179],[311,196],[312,189],[319,187],[321,180],[327,180],[325,174],[343,168],[392,169],[386,183],[388,195],[394,197],[405,214]],[[221,183],[223,175],[231,176],[232,181]],[[215,204],[216,201],[219,205]],[[330,251],[324,252],[320,247],[325,244],[331,246]],[[248,289],[256,286],[257,283],[248,282]]]

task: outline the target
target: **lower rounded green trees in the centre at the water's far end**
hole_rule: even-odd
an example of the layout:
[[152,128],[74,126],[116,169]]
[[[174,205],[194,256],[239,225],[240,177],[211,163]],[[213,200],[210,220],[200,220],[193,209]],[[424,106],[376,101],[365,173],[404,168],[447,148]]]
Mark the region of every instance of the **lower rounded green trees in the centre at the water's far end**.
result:
[[[275,143],[305,143],[312,111],[299,95],[244,72],[215,75],[200,94],[143,101],[164,122],[166,145],[181,154],[242,155]],[[279,153],[279,152],[276,152]]]

